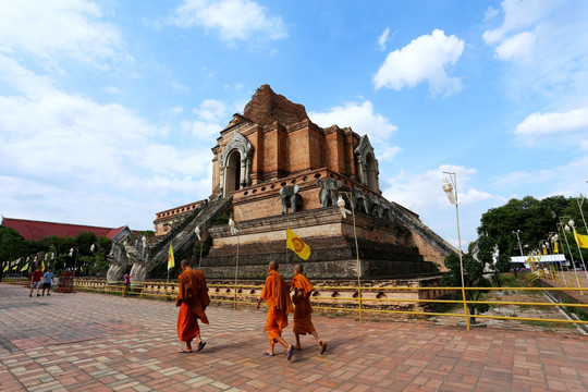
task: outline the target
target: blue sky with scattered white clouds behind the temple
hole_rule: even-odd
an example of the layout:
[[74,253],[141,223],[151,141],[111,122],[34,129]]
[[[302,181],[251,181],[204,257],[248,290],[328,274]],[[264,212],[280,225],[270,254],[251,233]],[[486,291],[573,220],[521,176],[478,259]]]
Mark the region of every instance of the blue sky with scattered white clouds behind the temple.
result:
[[383,196],[456,246],[443,172],[464,248],[511,198],[588,193],[584,0],[4,0],[0,213],[154,230],[264,84],[367,134]]

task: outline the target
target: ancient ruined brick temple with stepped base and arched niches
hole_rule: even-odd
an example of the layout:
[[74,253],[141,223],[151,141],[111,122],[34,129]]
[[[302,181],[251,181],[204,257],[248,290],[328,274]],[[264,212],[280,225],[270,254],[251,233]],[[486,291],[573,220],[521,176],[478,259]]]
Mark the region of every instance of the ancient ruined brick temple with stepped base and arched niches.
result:
[[[364,278],[443,270],[445,256],[455,252],[416,213],[381,196],[378,160],[367,135],[318,126],[302,105],[269,85],[257,89],[243,114],[233,115],[212,152],[212,195],[158,212],[155,223],[162,241],[152,247],[152,257],[163,257],[168,243],[174,249],[193,246],[198,226],[211,242],[201,260],[207,277],[234,277],[238,268],[240,278],[261,278],[270,260],[285,265],[287,273],[301,261],[286,250],[290,228],[311,248],[304,261],[307,274],[353,278],[354,217]],[[340,196],[353,211],[345,218]],[[236,232],[217,219],[221,213],[234,220]],[[170,231],[166,224],[172,221]]]

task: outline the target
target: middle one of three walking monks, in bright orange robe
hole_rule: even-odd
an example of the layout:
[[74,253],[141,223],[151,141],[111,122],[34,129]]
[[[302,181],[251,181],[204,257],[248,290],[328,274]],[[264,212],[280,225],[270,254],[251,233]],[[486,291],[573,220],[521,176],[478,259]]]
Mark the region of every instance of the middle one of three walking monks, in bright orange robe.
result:
[[269,351],[265,351],[264,355],[273,355],[273,345],[275,342],[280,343],[287,350],[287,360],[292,359],[294,346],[287,344],[282,338],[282,330],[287,327],[287,314],[291,314],[294,309],[292,306],[292,299],[290,299],[290,287],[284,278],[278,272],[278,262],[270,261],[269,274],[266,279],[266,284],[261,291],[261,296],[257,302],[257,308],[259,304],[265,299],[268,304],[268,316],[266,317],[266,328],[264,331],[268,332],[270,340]]

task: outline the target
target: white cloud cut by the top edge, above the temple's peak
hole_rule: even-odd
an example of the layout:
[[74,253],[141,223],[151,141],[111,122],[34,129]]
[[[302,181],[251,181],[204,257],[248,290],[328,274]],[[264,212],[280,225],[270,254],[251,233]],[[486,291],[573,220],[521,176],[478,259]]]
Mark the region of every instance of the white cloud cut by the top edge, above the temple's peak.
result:
[[267,39],[287,37],[280,16],[268,15],[267,8],[250,0],[184,0],[172,23],[180,27],[203,26],[217,29],[223,40],[246,40],[257,35]]

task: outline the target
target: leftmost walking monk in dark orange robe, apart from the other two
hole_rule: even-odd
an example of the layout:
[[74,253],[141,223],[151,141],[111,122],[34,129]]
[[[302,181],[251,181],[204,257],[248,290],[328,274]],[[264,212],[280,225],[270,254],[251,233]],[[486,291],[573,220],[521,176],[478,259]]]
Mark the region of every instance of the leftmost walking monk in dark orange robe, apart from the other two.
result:
[[175,306],[180,306],[177,314],[177,336],[180,342],[185,342],[186,346],[179,353],[192,353],[192,341],[196,338],[200,351],[205,342],[200,338],[200,327],[198,319],[208,324],[206,307],[210,304],[206,278],[203,271],[192,269],[189,259],[183,259],[181,264],[180,291],[175,299]]

